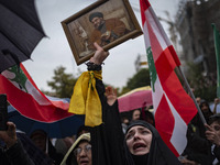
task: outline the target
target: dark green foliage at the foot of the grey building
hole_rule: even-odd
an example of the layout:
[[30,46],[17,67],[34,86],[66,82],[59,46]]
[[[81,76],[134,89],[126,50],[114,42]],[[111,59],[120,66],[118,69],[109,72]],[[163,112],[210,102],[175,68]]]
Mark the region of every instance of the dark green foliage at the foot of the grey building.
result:
[[190,87],[195,90],[195,97],[213,101],[217,97],[216,79],[210,75],[202,74],[202,67],[199,64],[188,64],[188,66],[187,79],[189,80]]

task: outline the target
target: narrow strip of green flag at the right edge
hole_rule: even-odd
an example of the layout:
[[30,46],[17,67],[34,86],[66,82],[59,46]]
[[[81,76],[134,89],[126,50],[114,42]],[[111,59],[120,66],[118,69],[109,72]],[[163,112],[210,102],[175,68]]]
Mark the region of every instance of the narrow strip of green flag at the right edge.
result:
[[212,24],[213,28],[213,41],[217,58],[217,97],[220,98],[220,34],[216,28],[216,24]]

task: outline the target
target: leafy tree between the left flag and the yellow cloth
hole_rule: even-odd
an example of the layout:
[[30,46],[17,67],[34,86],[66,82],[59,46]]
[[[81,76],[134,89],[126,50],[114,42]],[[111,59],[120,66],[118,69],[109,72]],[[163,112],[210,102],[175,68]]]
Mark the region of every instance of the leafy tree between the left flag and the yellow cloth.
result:
[[59,66],[54,70],[53,80],[47,81],[47,85],[55,91],[55,97],[70,98],[76,84],[76,78],[72,74],[65,73],[65,67]]

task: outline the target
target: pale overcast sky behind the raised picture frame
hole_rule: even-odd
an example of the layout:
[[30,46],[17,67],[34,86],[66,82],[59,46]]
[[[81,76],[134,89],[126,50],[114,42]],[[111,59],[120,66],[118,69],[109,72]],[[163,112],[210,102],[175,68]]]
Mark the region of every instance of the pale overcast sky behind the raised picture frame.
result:
[[[136,11],[140,9],[139,0],[129,1],[142,28],[141,13]],[[150,3],[158,16],[167,19],[164,11],[168,11],[174,20],[178,1],[150,0]],[[23,65],[41,90],[52,91],[47,81],[52,80],[54,69],[59,66],[65,67],[65,72],[76,78],[80,76],[80,72],[87,70],[85,64],[77,66],[61,22],[94,2],[96,0],[35,0],[38,18],[47,37],[42,38],[31,59],[25,61]],[[162,25],[168,35],[167,24],[162,22]],[[105,84],[122,88],[136,73],[134,63],[138,55],[145,55],[143,35],[113,47],[109,53],[102,66],[102,80]]]

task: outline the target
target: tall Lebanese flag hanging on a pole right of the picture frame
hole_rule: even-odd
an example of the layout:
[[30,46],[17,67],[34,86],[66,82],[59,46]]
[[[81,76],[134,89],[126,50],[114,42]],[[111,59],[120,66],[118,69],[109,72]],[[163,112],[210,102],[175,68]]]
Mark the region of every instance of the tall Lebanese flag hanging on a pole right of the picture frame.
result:
[[197,113],[174,69],[177,54],[147,0],[140,0],[144,41],[151,74],[155,127],[176,156],[187,144],[187,124]]

